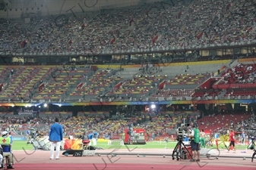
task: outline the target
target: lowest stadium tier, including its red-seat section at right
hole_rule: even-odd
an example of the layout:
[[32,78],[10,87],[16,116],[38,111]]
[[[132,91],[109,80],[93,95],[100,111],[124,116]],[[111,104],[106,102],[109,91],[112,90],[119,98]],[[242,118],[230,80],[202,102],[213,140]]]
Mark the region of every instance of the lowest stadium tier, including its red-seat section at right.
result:
[[[59,113],[62,116],[58,116]],[[46,114],[43,116],[43,114]],[[13,131],[14,135],[20,132],[24,132],[28,127],[40,128],[45,134],[48,133],[49,125],[52,123],[54,117],[61,119],[62,125],[65,128],[65,135],[78,135],[84,131],[99,131],[100,138],[119,139],[122,135],[122,130],[127,128],[129,124],[133,124],[134,128],[145,128],[147,135],[149,135],[149,141],[153,136],[154,140],[163,141],[164,138],[171,139],[171,135],[167,133],[167,129],[177,128],[177,125],[183,123],[184,119],[188,119],[189,122],[198,122],[199,127],[202,129],[208,129],[212,132],[226,133],[226,129],[230,127],[236,131],[243,131],[244,128],[254,128],[254,117],[245,113],[234,114],[213,114],[210,116],[204,116],[198,119],[198,113],[192,114],[169,114],[160,113],[154,116],[153,113],[147,113],[145,118],[146,122],[142,122],[143,116],[134,116],[130,119],[108,119],[105,114],[107,113],[85,113],[83,116],[66,116],[68,113],[55,112],[55,113],[40,113],[40,117],[32,118],[28,116],[5,116],[2,119],[2,128],[8,128]],[[151,116],[152,115],[152,116]],[[198,120],[197,120],[198,119]],[[30,125],[27,124],[30,122]],[[88,130],[90,129],[90,130]],[[172,136],[172,140],[175,135]]]

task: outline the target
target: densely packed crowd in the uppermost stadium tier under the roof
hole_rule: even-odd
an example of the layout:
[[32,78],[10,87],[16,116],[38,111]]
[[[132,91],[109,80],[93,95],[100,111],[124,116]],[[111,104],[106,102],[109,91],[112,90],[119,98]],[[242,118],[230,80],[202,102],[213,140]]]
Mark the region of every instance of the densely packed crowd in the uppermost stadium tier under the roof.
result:
[[[14,20],[5,20],[0,23],[0,46],[4,52],[22,48],[27,53],[87,54],[250,43],[256,35],[256,9],[251,3],[179,1],[163,10],[150,8],[161,6],[158,2],[109,13],[70,15],[63,20],[59,17],[57,22],[53,16],[38,17],[22,28]],[[24,41],[26,45],[21,45]]]

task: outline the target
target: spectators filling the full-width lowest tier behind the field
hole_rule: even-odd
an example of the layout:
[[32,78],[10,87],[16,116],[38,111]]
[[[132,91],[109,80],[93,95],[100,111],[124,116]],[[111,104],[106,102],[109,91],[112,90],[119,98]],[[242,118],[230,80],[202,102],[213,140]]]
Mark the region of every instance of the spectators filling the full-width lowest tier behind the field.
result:
[[[58,115],[56,115],[58,116]],[[6,129],[8,131],[13,131],[18,134],[18,131],[27,130],[27,128],[38,128],[40,130],[40,134],[48,135],[49,133],[49,125],[54,122],[56,116],[3,116],[1,121],[1,128]],[[210,117],[216,117],[216,114],[210,115]],[[125,128],[128,128],[132,125],[134,128],[144,128],[147,131],[147,135],[150,138],[159,138],[169,136],[168,129],[176,128],[176,125],[183,123],[183,121],[188,121],[191,123],[198,122],[201,128],[211,129],[214,133],[218,132],[220,134],[226,134],[230,128],[234,129],[237,133],[245,131],[245,128],[256,129],[255,126],[255,115],[254,113],[251,116],[248,114],[244,114],[242,116],[241,121],[239,121],[237,116],[223,115],[229,117],[229,125],[222,125],[221,121],[223,119],[218,119],[219,122],[215,121],[215,124],[218,124],[219,128],[214,128],[216,125],[213,122],[202,121],[199,119],[200,116],[197,114],[178,114],[178,115],[169,115],[164,113],[159,114],[148,114],[144,116],[133,116],[129,119],[123,119],[123,117],[119,117],[119,119],[109,119],[109,117],[105,114],[95,115],[95,116],[61,116],[60,123],[62,123],[64,128],[64,135],[79,135],[84,132],[91,133],[93,131],[97,131],[100,133],[100,138],[121,138],[122,132]],[[234,117],[233,119],[231,119]],[[245,117],[245,119],[243,119]],[[249,117],[249,119],[247,119]],[[198,120],[199,119],[199,120]],[[197,121],[198,120],[198,121]],[[224,121],[225,122],[225,121]],[[178,124],[177,124],[178,123]],[[256,131],[254,131],[256,132]],[[252,133],[254,133],[252,132]],[[249,134],[250,132],[247,132]],[[15,133],[14,133],[15,134]]]

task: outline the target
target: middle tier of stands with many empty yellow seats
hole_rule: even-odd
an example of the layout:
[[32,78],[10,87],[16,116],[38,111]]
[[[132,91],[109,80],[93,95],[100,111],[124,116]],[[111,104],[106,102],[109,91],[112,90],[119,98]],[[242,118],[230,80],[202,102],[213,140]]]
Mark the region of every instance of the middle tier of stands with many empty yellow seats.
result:
[[[90,68],[72,64],[65,66],[3,66],[1,79],[4,83],[2,83],[2,91],[0,91],[2,94],[0,100],[29,103],[31,100],[40,100],[41,102],[113,100],[113,98],[115,100],[141,100],[142,98],[146,100],[191,100],[194,97],[227,97],[229,96],[228,92],[223,94],[219,85],[223,84],[227,73],[233,75],[231,70],[234,70],[234,73],[241,70],[239,64],[242,63],[238,63],[232,69],[228,69],[226,66],[236,61],[218,60],[213,61],[213,65],[210,64],[210,61],[171,63],[175,67],[185,69],[185,74],[179,74],[179,69],[173,69],[172,65],[163,68],[154,66],[154,70],[163,72],[153,74],[147,73],[150,66],[147,69],[146,66],[137,67],[137,65],[134,65],[133,68],[124,66],[124,70],[100,69],[100,65]],[[196,72],[198,65],[201,69]],[[99,68],[95,70],[98,66]],[[220,69],[216,70],[216,66]],[[170,70],[172,71],[170,72]],[[213,72],[209,73],[209,70],[213,70]],[[254,81],[253,64],[245,64],[242,70],[245,70],[244,79]],[[198,74],[190,74],[194,72]],[[127,73],[132,74],[128,76]],[[208,83],[210,81],[213,81],[211,82],[213,86],[217,86],[216,89],[207,86],[210,85]],[[248,81],[244,84],[248,85]],[[251,95],[254,97],[254,90],[251,89],[251,91]]]

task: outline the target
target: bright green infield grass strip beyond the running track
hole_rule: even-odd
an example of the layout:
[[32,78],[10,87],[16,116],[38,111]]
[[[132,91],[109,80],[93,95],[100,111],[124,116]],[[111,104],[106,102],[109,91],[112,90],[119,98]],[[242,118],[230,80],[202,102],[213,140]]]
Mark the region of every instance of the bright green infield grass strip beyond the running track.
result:
[[[176,142],[159,142],[159,141],[153,141],[153,142],[147,142],[147,144],[134,144],[134,145],[127,145],[127,146],[120,146],[120,141],[112,141],[111,145],[108,145],[107,142],[98,142],[97,147],[103,147],[104,149],[126,149],[127,147],[131,150],[135,147],[137,149],[173,149],[177,143]],[[247,147],[247,145],[243,146],[236,146],[236,149],[244,150]],[[209,149],[216,148],[214,147],[207,147]],[[220,144],[219,148],[225,148],[224,144]],[[14,144],[12,144],[12,150],[33,150],[32,144],[27,144],[26,141],[14,141]]]

